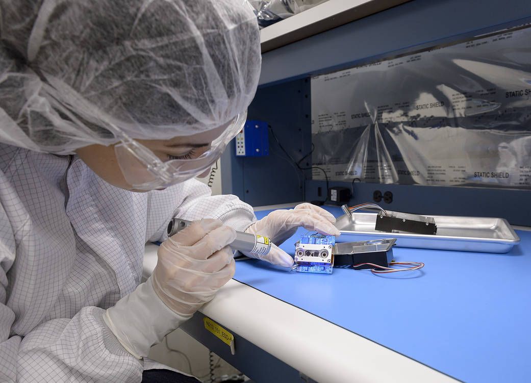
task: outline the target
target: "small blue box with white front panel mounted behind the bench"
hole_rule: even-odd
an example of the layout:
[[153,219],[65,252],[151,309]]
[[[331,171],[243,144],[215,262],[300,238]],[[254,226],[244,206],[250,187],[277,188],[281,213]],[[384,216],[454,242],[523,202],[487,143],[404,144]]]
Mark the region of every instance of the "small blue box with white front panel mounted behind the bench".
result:
[[247,120],[236,135],[237,157],[261,157],[269,155],[268,123]]

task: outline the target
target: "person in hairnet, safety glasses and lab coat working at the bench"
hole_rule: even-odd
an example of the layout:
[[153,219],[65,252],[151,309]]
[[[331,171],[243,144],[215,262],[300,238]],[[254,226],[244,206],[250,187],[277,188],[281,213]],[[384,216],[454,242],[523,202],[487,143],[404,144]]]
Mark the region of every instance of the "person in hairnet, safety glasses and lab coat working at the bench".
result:
[[[0,381],[197,381],[145,356],[233,276],[235,229],[277,244],[298,226],[337,234],[320,208],[256,221],[193,180],[254,96],[253,12],[0,0],[0,17]],[[174,216],[196,221],[166,239]],[[159,240],[141,284],[144,244]],[[276,247],[264,260],[293,262]]]

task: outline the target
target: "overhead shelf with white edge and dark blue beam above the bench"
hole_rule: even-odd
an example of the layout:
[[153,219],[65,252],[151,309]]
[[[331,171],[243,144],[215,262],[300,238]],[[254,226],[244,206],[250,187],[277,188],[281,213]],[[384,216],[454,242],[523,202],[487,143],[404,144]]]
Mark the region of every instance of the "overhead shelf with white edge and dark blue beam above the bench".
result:
[[[321,14],[321,10],[331,12],[332,5],[336,5],[333,0],[264,28],[264,48],[279,47],[267,50],[262,55],[260,85],[305,78],[404,54],[412,49],[426,49],[459,39],[466,40],[482,33],[515,27],[531,19],[531,2],[528,1],[412,0],[401,2],[400,5],[395,4],[400,2],[392,3],[396,6],[343,25],[338,23],[340,26],[332,29],[324,28],[323,25],[333,21],[333,18],[339,19],[340,15],[349,12],[356,14],[359,7],[391,2],[374,0],[352,3],[363,4],[335,16],[323,11],[323,18],[316,19],[310,27],[306,27],[306,32],[302,28],[305,20],[314,20],[314,14]],[[301,28],[297,29],[295,24],[299,24]],[[287,25],[292,26],[288,28]],[[325,30],[313,35],[310,33],[319,28]],[[284,35],[282,30],[285,31]],[[311,36],[300,39],[297,34],[301,33],[303,36],[303,32],[310,33]],[[290,40],[295,42],[289,43]]]

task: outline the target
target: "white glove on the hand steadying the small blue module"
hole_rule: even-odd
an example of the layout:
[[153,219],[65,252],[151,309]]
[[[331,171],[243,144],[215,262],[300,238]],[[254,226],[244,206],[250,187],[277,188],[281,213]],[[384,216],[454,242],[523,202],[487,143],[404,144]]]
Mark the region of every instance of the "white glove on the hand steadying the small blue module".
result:
[[311,203],[301,203],[289,210],[275,210],[267,216],[247,227],[246,233],[259,234],[269,237],[273,244],[271,250],[265,256],[256,254],[244,254],[250,258],[259,258],[274,265],[291,267],[293,258],[285,251],[278,248],[290,236],[295,234],[298,227],[303,226],[310,231],[316,231],[324,235],[338,236],[341,233],[333,224],[336,218],[328,211]]

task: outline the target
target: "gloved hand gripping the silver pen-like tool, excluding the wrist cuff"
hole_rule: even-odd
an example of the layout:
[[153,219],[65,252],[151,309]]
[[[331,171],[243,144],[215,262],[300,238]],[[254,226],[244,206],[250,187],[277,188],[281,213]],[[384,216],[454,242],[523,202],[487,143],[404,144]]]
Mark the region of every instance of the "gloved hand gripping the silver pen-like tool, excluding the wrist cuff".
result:
[[193,222],[164,241],[151,276],[153,289],[170,309],[190,316],[234,276],[233,228],[218,219]]

